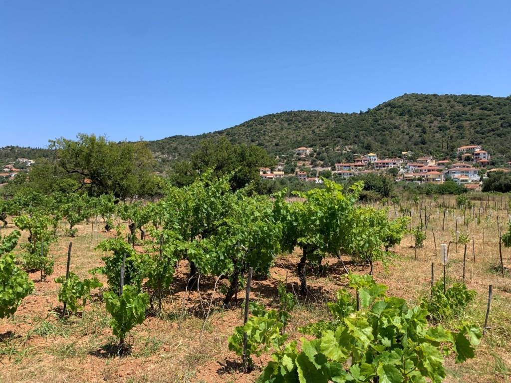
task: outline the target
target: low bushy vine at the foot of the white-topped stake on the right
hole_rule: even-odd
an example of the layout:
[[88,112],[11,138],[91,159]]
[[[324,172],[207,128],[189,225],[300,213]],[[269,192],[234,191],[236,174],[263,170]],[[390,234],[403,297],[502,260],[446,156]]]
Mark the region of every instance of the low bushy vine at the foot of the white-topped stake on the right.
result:
[[464,283],[454,283],[444,294],[444,282],[433,285],[433,295],[423,299],[421,306],[428,310],[435,322],[451,320],[463,314],[463,310],[476,296],[475,290],[468,290]]

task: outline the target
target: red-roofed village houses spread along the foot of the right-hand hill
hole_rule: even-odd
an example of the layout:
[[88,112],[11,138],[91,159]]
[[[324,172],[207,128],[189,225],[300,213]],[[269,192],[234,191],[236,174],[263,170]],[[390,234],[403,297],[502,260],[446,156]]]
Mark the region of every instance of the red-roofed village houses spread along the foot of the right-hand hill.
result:
[[[378,158],[376,153],[365,155],[355,154],[354,162],[336,163],[334,167],[315,166],[310,167],[310,171],[304,171],[303,168],[310,165],[306,157],[313,154],[313,148],[300,147],[294,150],[298,159],[297,167],[302,170],[296,170],[294,173],[284,173],[284,163],[280,162],[275,169],[263,167],[260,169],[260,175],[263,179],[277,179],[282,177],[297,177],[299,180],[322,183],[321,173],[330,171],[332,176],[341,178],[350,178],[367,173],[387,172],[396,175],[396,181],[416,182],[416,183],[443,183],[446,180],[452,180],[464,187],[480,191],[481,174],[487,172],[509,172],[505,168],[493,168],[486,171],[489,166],[491,156],[483,150],[480,145],[467,145],[457,148],[456,160],[436,159],[432,156],[423,156],[412,160],[413,152],[402,152],[398,158]],[[301,161],[299,160],[301,159]],[[508,162],[511,165],[511,162]],[[396,171],[389,171],[396,169]],[[484,169],[484,172],[481,170]]]

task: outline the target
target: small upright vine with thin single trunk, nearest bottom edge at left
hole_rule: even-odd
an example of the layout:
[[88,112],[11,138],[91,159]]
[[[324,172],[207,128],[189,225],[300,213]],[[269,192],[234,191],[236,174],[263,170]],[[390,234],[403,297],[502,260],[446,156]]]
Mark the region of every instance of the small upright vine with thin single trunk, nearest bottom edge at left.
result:
[[149,296],[139,291],[136,286],[126,285],[121,296],[111,291],[103,293],[106,310],[112,316],[110,327],[121,343],[124,343],[126,333],[146,319]]

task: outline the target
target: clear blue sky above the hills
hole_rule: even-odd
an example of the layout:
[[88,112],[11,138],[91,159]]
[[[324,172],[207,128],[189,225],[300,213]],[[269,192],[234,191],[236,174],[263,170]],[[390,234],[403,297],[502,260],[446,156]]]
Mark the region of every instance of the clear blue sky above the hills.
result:
[[[421,4],[419,4],[421,3]],[[511,93],[511,2],[0,0],[0,146]]]

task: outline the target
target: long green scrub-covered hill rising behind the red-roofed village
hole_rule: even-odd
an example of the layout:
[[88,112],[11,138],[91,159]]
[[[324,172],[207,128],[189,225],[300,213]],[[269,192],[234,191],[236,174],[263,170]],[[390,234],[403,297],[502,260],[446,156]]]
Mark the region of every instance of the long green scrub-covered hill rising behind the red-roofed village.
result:
[[225,130],[171,136],[149,145],[157,155],[181,159],[188,157],[200,140],[215,136],[254,143],[271,154],[307,146],[351,147],[354,153],[374,151],[380,156],[396,156],[406,150],[450,155],[458,146],[479,143],[494,156],[511,160],[511,97],[404,94],[365,112],[281,112]]

